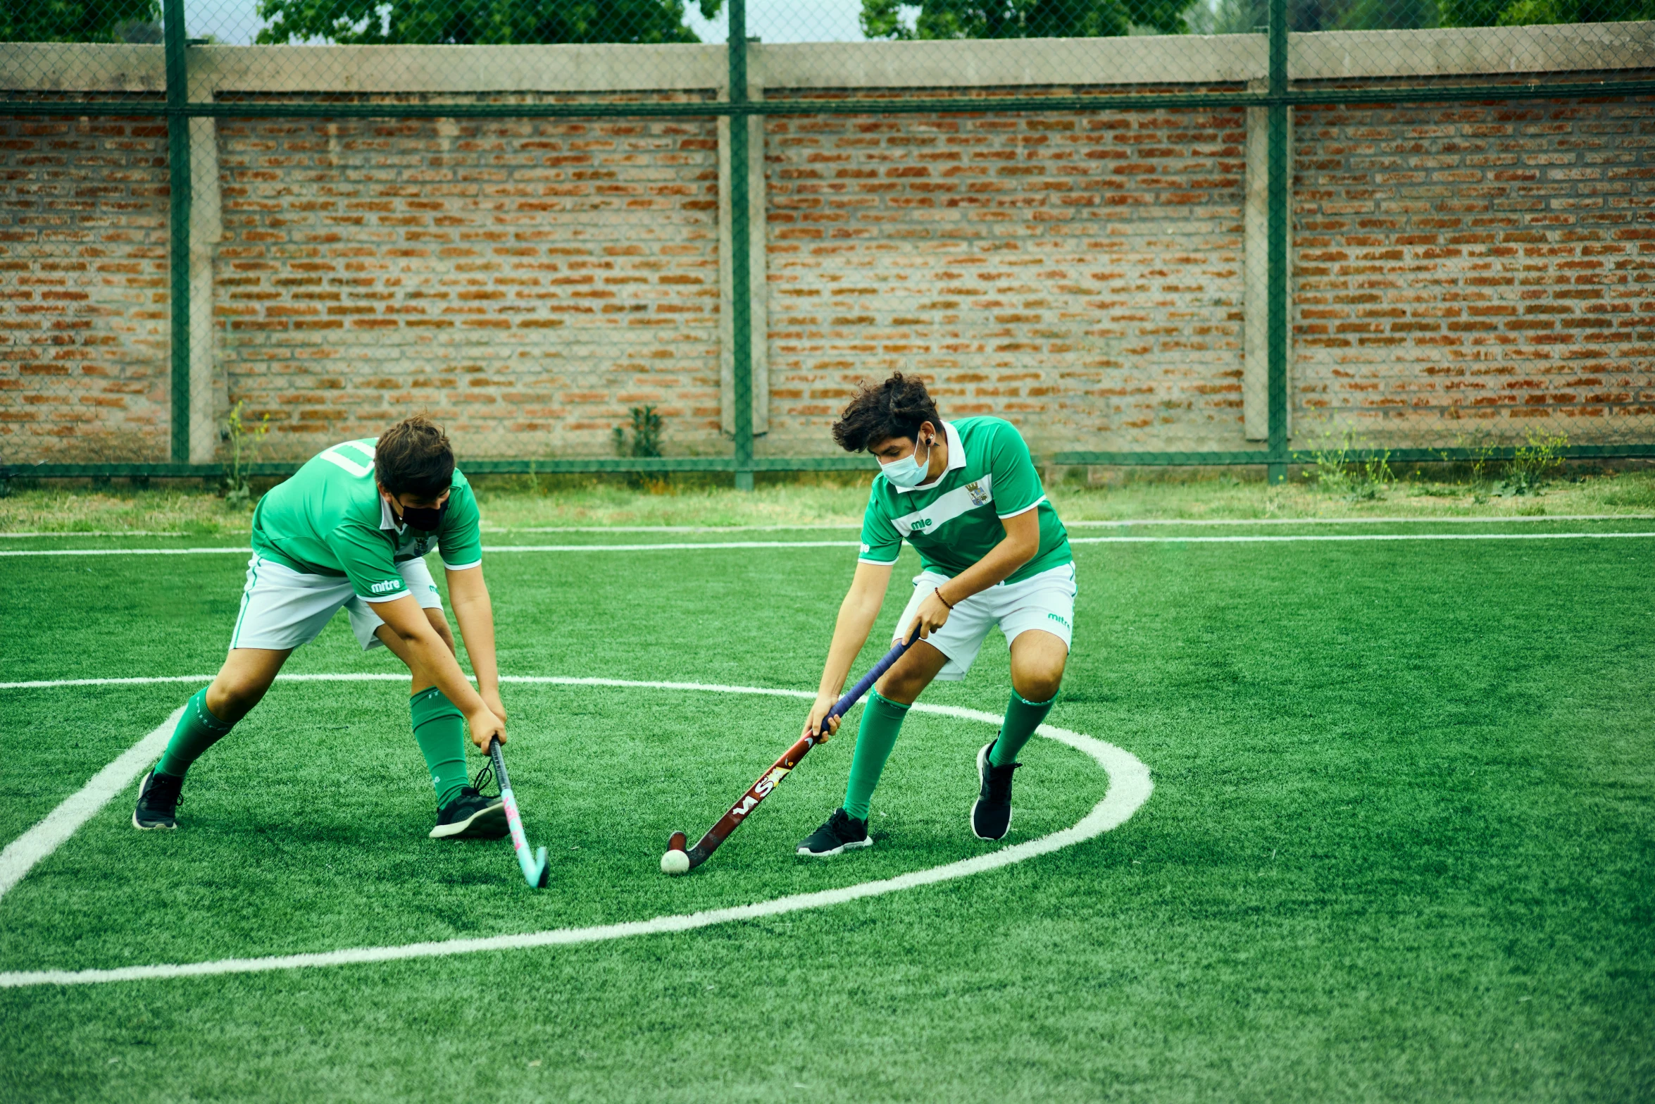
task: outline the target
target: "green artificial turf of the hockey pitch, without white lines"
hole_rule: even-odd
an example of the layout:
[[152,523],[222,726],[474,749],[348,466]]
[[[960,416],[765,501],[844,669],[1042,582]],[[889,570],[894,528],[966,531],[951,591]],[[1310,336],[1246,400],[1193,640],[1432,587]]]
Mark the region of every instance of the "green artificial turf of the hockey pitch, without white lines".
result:
[[[1102,838],[679,935],[0,990],[0,1099],[1648,1099],[1650,553],[1082,545],[1051,722],[1155,780]],[[851,558],[503,553],[485,569],[508,674],[813,689]],[[0,680],[209,674],[242,571],[233,554],[0,559]],[[290,664],[396,669],[343,621]],[[996,634],[965,684],[925,700],[998,713],[1006,689]],[[5,839],[192,690],[0,690]],[[804,703],[566,685],[513,685],[506,703],[548,890],[523,886],[505,844],[425,839],[404,685],[288,682],[195,768],[179,833],[131,831],[122,794],[0,899],[0,970],[602,924],[996,846],[965,823],[991,728],[914,715],[874,849],[791,854],[839,798],[841,738],[702,871],[667,879],[667,831],[710,824]],[[1076,751],[1036,742],[1024,761],[1008,842],[1102,794]]]

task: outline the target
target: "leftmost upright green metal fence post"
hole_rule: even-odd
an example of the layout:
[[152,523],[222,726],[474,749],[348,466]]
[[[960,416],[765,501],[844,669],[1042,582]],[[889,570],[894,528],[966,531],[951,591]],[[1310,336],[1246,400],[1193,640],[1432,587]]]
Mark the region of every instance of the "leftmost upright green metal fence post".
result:
[[167,278],[172,301],[172,462],[190,460],[190,99],[184,51],[184,0],[164,0],[167,51],[167,187],[172,230]]

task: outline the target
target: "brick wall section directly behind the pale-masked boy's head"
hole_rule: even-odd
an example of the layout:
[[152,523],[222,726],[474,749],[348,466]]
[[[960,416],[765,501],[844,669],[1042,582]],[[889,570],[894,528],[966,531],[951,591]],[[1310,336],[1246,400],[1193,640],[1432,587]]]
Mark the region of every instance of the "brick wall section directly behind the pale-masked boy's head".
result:
[[1241,442],[1245,113],[776,116],[771,450],[856,381],[1036,449]]

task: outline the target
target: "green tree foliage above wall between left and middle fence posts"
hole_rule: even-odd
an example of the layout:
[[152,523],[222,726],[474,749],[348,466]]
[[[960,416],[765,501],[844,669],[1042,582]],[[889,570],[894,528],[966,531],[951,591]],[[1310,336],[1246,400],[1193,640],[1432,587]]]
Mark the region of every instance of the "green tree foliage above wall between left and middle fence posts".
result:
[[[723,0],[698,0],[705,18]],[[260,0],[261,43],[528,45],[698,41],[684,0]]]

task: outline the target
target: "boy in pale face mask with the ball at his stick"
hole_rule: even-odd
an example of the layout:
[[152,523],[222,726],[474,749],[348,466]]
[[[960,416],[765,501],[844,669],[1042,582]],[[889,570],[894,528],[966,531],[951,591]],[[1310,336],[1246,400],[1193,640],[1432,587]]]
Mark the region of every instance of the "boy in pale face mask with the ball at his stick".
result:
[[[866,847],[869,799],[902,718],[933,679],[963,679],[988,631],[1011,644],[1011,700],[1000,735],[976,753],[971,831],[1001,839],[1011,828],[1011,773],[1018,751],[1051,712],[1069,659],[1074,558],[1058,511],[1046,502],[1028,445],[1011,422],[945,422],[925,384],[894,374],[862,387],[832,427],[846,452],[879,460],[862,518],[862,556],[839,606],[828,664],[804,732],[816,732],[844,689],[907,540],[920,554],[914,596],[897,639],[920,641],[885,672],[867,705],[851,758],[844,806],[798,846],[831,856]],[[837,732],[839,720],[829,722]]]

